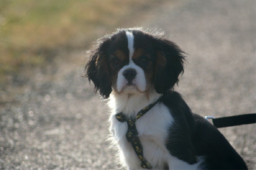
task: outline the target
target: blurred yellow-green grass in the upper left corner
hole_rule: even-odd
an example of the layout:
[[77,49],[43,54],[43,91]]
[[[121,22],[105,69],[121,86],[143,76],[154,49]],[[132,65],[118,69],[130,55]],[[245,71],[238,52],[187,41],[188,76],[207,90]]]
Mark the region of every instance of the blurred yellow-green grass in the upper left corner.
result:
[[[136,1],[136,6],[148,1]],[[119,27],[134,1],[0,0],[0,76],[43,66],[59,48],[86,49]]]

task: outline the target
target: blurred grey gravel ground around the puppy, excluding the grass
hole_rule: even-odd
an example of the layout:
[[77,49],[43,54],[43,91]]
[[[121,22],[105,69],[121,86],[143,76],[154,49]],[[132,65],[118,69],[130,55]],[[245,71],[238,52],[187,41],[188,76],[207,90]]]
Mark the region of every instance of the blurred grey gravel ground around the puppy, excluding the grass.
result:
[[[221,117],[256,111],[255,16],[254,0],[165,1],[120,27],[157,26],[172,34],[189,54],[176,90],[193,112]],[[57,52],[52,64],[31,70],[29,79],[17,74],[11,87],[1,86],[2,96],[21,84],[23,91],[0,107],[0,168],[120,168],[106,140],[106,103],[78,76],[84,51]],[[256,169],[255,124],[220,131]]]

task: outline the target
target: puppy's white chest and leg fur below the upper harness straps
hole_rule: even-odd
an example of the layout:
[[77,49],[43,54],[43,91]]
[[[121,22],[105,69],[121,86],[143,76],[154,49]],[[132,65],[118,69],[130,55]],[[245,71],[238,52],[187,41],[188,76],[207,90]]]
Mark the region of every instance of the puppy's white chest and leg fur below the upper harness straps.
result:
[[[132,148],[132,144],[126,139],[127,123],[118,122],[115,117],[116,111],[110,115],[110,132],[113,135],[113,143],[119,149],[120,163],[128,169],[144,169],[140,166],[141,161]],[[197,169],[202,161],[189,165],[188,163],[172,156],[166,149],[165,141],[169,134],[169,128],[174,119],[168,107],[157,103],[145,115],[136,121],[136,129],[143,147],[144,158],[153,166],[153,169],[163,169],[164,164],[169,169]],[[200,159],[200,158],[198,158]]]

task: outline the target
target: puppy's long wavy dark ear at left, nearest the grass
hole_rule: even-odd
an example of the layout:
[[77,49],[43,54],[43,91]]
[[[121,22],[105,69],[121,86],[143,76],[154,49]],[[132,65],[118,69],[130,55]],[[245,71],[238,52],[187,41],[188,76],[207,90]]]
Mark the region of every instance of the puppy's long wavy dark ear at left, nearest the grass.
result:
[[88,77],[89,82],[94,83],[94,92],[100,92],[100,95],[107,99],[112,92],[112,82],[108,71],[107,49],[110,40],[104,39],[98,42],[98,45],[85,66],[84,77]]

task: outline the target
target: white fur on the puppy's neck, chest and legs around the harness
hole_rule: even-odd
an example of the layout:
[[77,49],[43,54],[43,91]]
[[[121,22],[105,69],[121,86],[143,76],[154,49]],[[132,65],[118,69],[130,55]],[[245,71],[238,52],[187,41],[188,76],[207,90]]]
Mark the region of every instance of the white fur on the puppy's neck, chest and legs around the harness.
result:
[[[144,169],[134,152],[131,143],[126,139],[127,123],[118,122],[115,114],[123,111],[124,114],[135,117],[143,107],[156,101],[161,95],[155,91],[149,94],[111,94],[109,106],[112,113],[109,117],[110,132],[113,135],[113,143],[119,149],[120,161],[128,169]],[[153,169],[163,169],[167,163],[169,169],[197,169],[202,160],[194,165],[172,156],[165,147],[165,141],[174,119],[169,109],[162,103],[157,103],[145,115],[136,121],[136,129],[143,146],[144,158],[153,166]],[[199,160],[201,158],[198,158]]]

